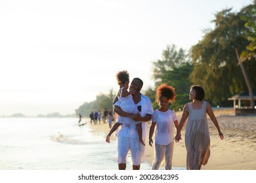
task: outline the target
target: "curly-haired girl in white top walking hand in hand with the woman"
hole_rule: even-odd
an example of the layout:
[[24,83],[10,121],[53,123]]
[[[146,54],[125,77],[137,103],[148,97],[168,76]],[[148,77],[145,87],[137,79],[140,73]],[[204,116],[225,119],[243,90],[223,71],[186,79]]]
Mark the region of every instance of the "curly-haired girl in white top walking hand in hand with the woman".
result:
[[171,170],[174,145],[174,125],[179,126],[176,114],[167,108],[168,103],[173,103],[176,94],[175,89],[167,84],[161,84],[156,89],[156,101],[160,108],[152,114],[152,125],[150,127],[149,144],[152,146],[152,136],[156,127],[154,162],[152,170],[158,170],[165,159],[165,170]]

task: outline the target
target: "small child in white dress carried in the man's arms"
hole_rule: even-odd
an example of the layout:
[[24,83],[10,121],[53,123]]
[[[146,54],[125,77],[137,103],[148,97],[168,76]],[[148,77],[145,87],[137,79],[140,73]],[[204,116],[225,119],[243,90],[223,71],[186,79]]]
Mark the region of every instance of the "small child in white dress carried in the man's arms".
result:
[[[120,86],[119,92],[116,95],[116,98],[113,102],[116,103],[117,100],[120,101],[120,107],[124,112],[130,113],[130,114],[138,114],[139,110],[137,106],[135,105],[133,101],[133,95],[135,91],[130,90],[129,88],[129,73],[127,71],[119,71],[116,75],[117,84]],[[116,124],[113,125],[112,129],[110,129],[110,132],[108,133],[106,137],[106,142],[110,143],[110,136],[121,124],[131,124],[131,120],[127,119],[127,117],[118,116],[119,120]],[[121,118],[121,119],[120,119]],[[132,122],[133,124],[137,124],[137,131],[139,135],[139,142],[143,145],[144,142],[142,141],[142,126],[141,122]]]

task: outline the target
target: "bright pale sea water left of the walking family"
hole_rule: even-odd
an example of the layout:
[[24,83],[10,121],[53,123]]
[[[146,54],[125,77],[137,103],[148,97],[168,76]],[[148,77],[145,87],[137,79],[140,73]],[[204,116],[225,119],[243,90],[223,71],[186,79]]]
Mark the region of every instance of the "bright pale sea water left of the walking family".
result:
[[[80,126],[77,122],[77,118],[0,118],[0,169],[117,169],[116,141],[109,144],[105,133],[92,133],[89,120]],[[127,169],[131,167],[129,161]]]

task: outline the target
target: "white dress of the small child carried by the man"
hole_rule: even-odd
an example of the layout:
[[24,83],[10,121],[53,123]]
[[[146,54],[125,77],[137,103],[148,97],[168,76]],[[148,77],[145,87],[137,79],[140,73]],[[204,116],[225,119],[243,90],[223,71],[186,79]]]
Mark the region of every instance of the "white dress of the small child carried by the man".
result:
[[[120,96],[118,97],[118,100],[120,101],[120,107],[124,112],[130,113],[130,114],[138,114],[139,110],[135,104],[135,102],[133,101],[133,95],[128,95],[126,97],[121,97],[121,94],[123,92],[123,87],[120,88],[121,93]],[[118,122],[120,124],[140,124],[140,122],[135,122],[131,120],[127,120],[127,117],[123,117],[123,116],[118,116],[119,120]]]

